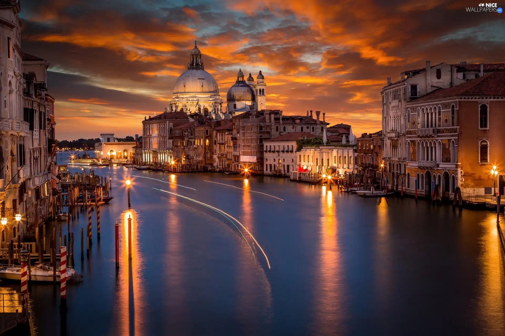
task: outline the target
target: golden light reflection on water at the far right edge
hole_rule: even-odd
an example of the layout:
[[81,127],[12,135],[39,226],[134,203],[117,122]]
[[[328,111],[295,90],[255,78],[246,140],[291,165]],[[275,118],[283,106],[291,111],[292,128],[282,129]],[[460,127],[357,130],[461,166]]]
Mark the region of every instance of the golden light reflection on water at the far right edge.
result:
[[[501,228],[503,230],[503,224]],[[496,227],[496,215],[486,216],[482,236],[482,294],[479,302],[480,315],[488,326],[489,334],[505,335],[505,300],[503,248]]]

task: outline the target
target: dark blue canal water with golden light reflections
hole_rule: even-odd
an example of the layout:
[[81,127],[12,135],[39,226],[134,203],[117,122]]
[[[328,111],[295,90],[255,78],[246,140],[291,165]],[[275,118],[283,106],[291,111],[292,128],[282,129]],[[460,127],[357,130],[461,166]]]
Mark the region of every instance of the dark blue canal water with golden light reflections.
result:
[[[505,334],[505,254],[490,212],[270,177],[95,173],[112,177],[102,239],[93,212],[82,262],[76,238],[84,277],[67,287],[66,315],[59,288],[30,287],[34,335]],[[86,223],[85,213],[71,222],[76,237]]]

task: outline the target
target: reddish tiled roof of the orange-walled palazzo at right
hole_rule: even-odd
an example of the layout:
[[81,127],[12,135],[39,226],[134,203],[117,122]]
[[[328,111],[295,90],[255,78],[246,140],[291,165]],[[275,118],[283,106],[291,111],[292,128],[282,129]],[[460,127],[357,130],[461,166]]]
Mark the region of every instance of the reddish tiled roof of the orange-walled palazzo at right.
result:
[[437,89],[414,102],[458,96],[505,96],[505,72],[494,72],[451,88]]

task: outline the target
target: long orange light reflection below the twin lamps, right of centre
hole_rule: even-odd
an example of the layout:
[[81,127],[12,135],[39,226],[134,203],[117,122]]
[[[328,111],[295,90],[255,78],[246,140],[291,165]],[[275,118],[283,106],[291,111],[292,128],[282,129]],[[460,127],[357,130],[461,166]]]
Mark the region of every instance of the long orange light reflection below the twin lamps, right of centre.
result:
[[316,275],[315,313],[320,334],[342,333],[343,291],[341,280],[341,256],[338,250],[337,209],[333,192],[322,187],[319,267]]

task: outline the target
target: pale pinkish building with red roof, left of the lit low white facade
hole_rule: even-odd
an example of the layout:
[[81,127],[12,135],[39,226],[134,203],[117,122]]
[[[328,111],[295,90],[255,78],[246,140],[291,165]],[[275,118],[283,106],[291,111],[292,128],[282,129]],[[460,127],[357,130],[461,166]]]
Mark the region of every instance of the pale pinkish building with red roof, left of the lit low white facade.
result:
[[299,139],[316,138],[310,132],[291,132],[264,142],[265,175],[289,176],[296,171],[297,148],[296,141]]

